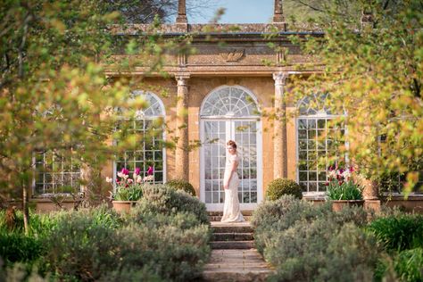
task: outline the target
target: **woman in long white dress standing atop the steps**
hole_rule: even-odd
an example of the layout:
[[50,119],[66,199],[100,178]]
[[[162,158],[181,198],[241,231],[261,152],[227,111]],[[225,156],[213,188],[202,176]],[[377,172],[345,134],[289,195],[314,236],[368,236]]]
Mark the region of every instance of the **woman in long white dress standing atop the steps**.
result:
[[223,216],[221,222],[240,222],[245,221],[239,211],[238,185],[239,178],[236,168],[240,158],[236,153],[235,141],[229,140],[227,143],[228,158],[225,166],[225,176],[223,178],[223,188],[225,189],[225,204],[223,207]]

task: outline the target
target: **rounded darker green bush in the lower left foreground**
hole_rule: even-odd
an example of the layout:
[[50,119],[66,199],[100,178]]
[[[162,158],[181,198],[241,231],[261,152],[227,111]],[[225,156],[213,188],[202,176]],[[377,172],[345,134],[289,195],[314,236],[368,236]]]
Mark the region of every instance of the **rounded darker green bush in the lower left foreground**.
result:
[[101,278],[116,265],[120,237],[89,212],[73,211],[57,221],[45,244],[47,270],[61,279],[88,281]]

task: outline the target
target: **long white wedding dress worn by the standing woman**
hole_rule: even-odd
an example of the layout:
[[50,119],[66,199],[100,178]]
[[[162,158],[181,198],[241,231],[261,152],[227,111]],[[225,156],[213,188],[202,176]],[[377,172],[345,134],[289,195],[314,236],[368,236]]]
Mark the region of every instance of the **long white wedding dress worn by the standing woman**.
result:
[[225,175],[223,178],[223,183],[228,183],[228,189],[225,190],[225,203],[223,206],[223,216],[220,220],[221,222],[241,222],[245,221],[244,217],[239,210],[239,201],[238,201],[238,185],[239,177],[236,172],[232,173],[230,177],[230,170],[233,162],[239,163],[240,158],[237,154],[229,154],[229,157],[226,161],[225,166]]

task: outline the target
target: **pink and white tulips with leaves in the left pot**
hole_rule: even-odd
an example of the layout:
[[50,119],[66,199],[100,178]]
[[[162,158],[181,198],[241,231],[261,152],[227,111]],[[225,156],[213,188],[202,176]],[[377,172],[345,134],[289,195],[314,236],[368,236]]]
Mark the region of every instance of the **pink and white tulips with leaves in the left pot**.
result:
[[[132,178],[129,178],[129,170],[123,168],[118,172],[118,176],[115,180],[116,189],[115,192],[111,192],[111,198],[116,201],[137,201],[143,196],[143,184],[148,181],[153,181],[153,167],[148,167],[146,176],[143,178],[140,175],[141,169],[136,168],[132,174]],[[106,178],[109,183],[113,182],[112,178]]]

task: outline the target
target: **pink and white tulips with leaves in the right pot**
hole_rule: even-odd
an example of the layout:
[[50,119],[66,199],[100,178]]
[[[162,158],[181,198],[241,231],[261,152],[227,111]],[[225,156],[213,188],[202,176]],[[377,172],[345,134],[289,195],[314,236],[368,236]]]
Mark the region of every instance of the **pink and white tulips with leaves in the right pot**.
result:
[[362,187],[352,179],[353,168],[346,170],[329,168],[328,199],[330,200],[362,200]]

